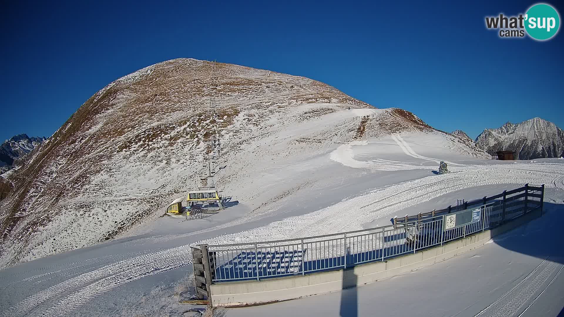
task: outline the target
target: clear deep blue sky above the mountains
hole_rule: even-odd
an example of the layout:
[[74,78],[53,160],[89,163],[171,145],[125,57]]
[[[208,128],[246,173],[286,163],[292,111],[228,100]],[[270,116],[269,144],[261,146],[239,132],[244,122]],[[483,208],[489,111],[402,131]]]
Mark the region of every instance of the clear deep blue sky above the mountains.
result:
[[49,137],[109,82],[180,57],[310,77],[472,138],[532,117],[564,128],[564,33],[484,26],[534,3],[8,2],[0,139]]

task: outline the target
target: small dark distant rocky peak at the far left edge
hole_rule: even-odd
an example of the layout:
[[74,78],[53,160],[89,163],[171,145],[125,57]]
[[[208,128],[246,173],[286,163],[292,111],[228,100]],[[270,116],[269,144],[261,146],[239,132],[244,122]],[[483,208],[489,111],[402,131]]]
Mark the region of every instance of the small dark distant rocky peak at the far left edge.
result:
[[0,174],[10,169],[14,165],[14,160],[27,155],[45,140],[45,137],[30,138],[27,134],[18,134],[2,143],[0,146]]

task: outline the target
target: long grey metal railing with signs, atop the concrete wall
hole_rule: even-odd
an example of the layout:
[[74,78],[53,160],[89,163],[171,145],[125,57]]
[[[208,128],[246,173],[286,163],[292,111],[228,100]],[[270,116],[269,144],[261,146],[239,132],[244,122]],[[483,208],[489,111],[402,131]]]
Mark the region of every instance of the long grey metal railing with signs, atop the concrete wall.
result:
[[[479,213],[479,221],[444,229],[449,208],[394,220],[389,226],[257,243],[200,245],[209,254],[212,283],[305,275],[386,259],[464,238],[542,208],[544,185],[465,202],[464,210]],[[460,210],[460,208],[457,208]]]

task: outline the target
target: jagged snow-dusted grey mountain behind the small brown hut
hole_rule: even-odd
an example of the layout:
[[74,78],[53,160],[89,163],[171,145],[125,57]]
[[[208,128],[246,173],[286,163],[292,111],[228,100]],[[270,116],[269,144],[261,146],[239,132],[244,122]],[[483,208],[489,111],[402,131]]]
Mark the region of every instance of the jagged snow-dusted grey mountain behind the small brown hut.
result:
[[519,124],[507,122],[499,129],[486,129],[475,140],[484,151],[515,151],[515,160],[564,155],[564,131],[552,122],[532,118]]

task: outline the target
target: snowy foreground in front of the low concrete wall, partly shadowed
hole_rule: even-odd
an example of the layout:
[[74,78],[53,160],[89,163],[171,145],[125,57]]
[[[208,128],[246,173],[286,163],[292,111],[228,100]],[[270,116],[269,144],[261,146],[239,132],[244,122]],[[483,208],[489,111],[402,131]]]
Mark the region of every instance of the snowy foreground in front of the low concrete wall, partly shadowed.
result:
[[[561,195],[561,194],[560,194]],[[562,196],[560,196],[562,197]],[[561,201],[560,201],[561,202]],[[481,248],[407,274],[224,316],[560,316],[564,314],[564,206]]]

